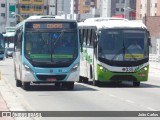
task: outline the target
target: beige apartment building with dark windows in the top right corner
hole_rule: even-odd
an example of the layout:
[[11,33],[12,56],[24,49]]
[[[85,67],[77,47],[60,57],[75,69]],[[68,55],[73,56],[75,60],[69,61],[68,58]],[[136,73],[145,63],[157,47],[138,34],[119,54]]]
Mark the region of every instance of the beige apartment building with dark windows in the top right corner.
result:
[[145,16],[160,16],[160,0],[137,0],[136,18]]

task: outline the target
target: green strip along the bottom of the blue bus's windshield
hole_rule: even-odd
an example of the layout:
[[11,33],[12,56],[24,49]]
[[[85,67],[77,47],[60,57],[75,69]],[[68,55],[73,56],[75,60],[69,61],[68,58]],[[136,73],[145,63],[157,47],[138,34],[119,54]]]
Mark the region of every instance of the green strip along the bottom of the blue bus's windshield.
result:
[[[30,58],[51,58],[50,54],[31,54]],[[52,58],[73,58],[73,55],[56,55],[53,54]]]

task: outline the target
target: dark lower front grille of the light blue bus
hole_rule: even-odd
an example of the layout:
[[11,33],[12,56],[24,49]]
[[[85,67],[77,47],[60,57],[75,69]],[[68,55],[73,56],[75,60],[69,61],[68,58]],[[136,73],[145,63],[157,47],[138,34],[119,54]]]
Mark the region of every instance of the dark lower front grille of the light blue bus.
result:
[[56,80],[64,80],[66,75],[37,75],[39,80],[48,80],[48,79],[56,79]]

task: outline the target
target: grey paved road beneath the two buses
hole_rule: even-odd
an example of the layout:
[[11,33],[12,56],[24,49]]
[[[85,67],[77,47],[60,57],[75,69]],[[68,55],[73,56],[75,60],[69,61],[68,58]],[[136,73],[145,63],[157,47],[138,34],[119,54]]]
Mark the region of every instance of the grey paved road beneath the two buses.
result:
[[[91,84],[75,83],[68,91],[54,86],[32,86],[29,91],[15,86],[13,59],[0,61],[3,79],[21,97],[22,105],[31,111],[160,111],[160,70],[150,68],[149,80],[135,88],[131,83],[119,86],[107,84],[96,87]],[[63,120],[64,118],[56,118]],[[66,119],[66,118],[65,118]],[[109,118],[76,118],[76,120],[106,120]],[[112,120],[151,120],[151,118],[110,118]],[[153,118],[152,120],[158,120]],[[42,118],[46,120],[46,118]],[[53,120],[53,118],[47,118]],[[68,118],[75,120],[75,118]]]

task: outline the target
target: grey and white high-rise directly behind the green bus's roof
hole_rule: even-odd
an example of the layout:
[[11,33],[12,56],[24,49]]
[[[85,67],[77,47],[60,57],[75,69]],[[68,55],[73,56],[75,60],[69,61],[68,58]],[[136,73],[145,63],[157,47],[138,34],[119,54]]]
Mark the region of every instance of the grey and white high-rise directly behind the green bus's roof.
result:
[[97,0],[97,10],[101,17],[135,19],[136,0]]

